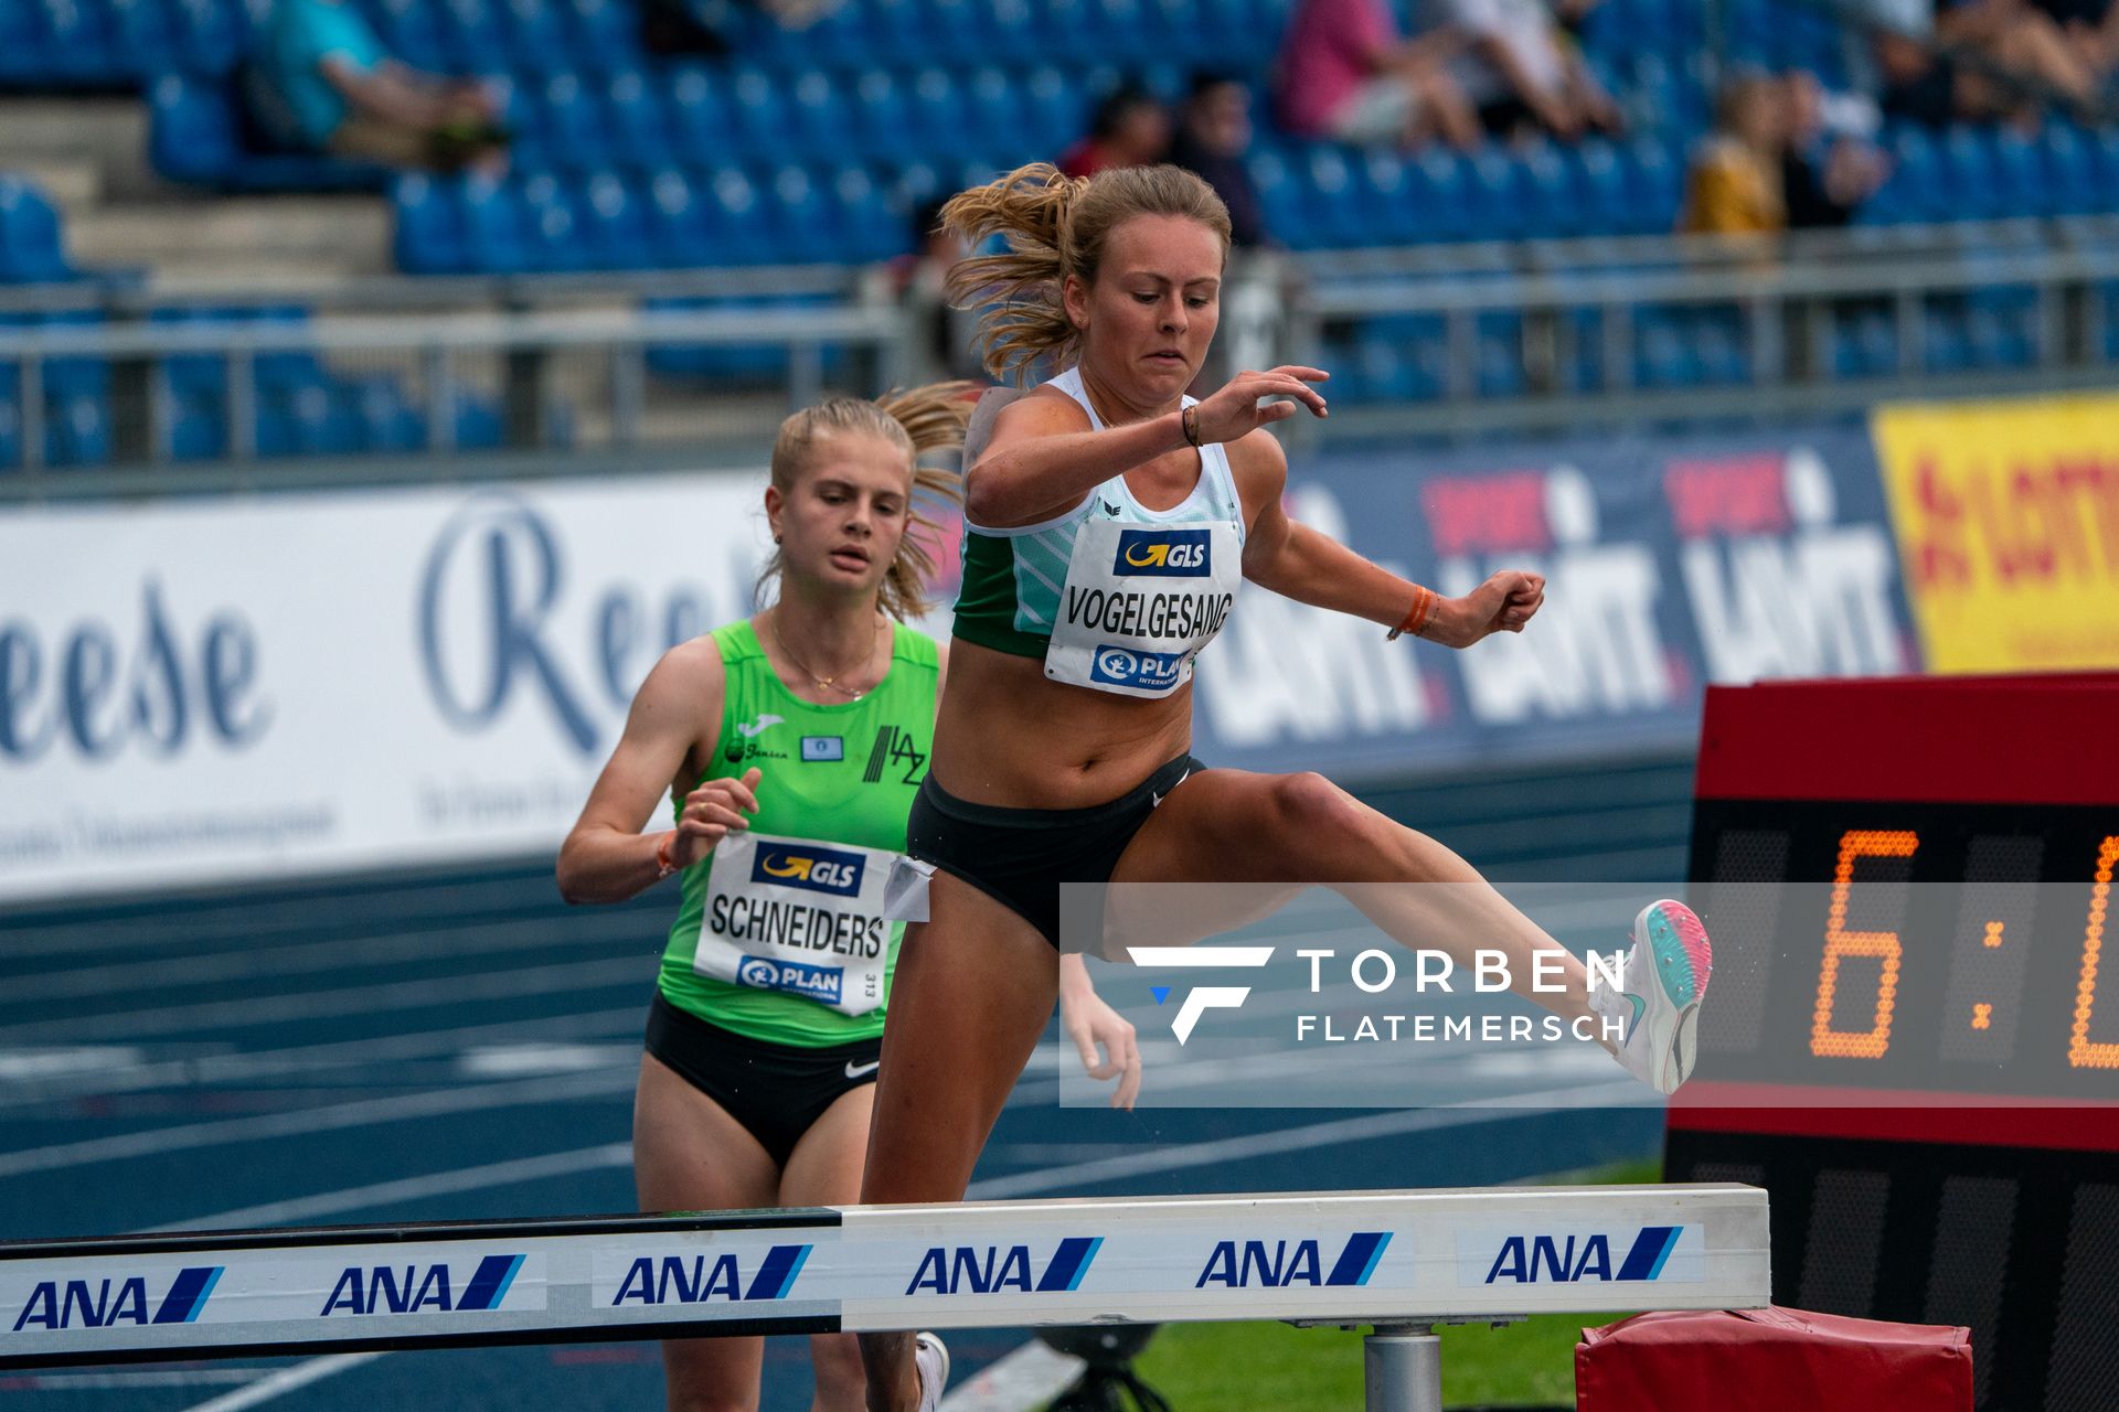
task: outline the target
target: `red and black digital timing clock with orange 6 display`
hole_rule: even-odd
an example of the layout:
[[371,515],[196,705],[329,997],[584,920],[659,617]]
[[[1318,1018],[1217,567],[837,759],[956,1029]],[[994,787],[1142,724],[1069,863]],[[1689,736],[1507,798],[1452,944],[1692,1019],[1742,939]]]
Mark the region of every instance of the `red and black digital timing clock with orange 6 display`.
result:
[[1774,1194],[1778,1302],[1969,1325],[1983,1410],[2119,1410],[2115,866],[2119,673],[1708,690],[1666,1175]]

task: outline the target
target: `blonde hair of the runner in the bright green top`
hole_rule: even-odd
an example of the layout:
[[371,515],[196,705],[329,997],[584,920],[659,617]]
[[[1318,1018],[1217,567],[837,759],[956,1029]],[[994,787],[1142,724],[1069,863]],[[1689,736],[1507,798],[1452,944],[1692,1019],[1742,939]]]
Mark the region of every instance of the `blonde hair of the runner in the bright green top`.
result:
[[[809,464],[809,453],[824,436],[879,436],[905,453],[905,466],[913,476],[913,510],[905,536],[898,540],[896,559],[890,561],[877,591],[877,603],[898,622],[926,612],[922,580],[934,572],[932,555],[913,536],[915,527],[937,527],[934,521],[920,514],[918,497],[926,493],[951,504],[964,497],[962,474],[922,466],[920,457],[928,451],[964,445],[964,426],[971,421],[973,406],[968,394],[971,383],[930,383],[911,392],[886,392],[873,402],[867,398],[824,398],[782,421],[780,436],[773,440],[771,483],[782,495],[793,493],[795,476]],[[780,578],[784,569],[786,561],[776,548],[759,572],[759,593],[763,595],[765,584]]]

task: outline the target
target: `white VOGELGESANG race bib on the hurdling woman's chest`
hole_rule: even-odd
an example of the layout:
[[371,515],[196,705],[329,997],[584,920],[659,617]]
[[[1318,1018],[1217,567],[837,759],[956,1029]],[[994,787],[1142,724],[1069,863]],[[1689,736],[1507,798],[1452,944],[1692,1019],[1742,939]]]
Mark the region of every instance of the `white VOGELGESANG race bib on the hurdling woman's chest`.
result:
[[1235,525],[1089,519],[1060,589],[1045,675],[1121,696],[1168,696],[1229,620],[1244,582]]

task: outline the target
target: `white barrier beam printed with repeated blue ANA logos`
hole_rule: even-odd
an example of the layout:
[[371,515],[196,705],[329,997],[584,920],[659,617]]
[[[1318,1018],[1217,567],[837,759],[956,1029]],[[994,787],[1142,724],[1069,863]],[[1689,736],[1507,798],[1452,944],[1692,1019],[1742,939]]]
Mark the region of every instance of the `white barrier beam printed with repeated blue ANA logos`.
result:
[[1765,1192],[1473,1188],[0,1245],[0,1368],[445,1344],[1761,1308]]

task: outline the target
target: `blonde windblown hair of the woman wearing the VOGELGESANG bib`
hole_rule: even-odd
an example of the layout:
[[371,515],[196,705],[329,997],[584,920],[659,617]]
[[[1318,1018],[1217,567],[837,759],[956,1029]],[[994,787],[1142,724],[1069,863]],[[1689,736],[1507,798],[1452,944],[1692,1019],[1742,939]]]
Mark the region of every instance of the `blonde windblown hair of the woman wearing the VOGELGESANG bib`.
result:
[[990,235],[1009,243],[1007,254],[958,260],[949,271],[949,301],[983,309],[977,343],[987,373],[1021,383],[1047,354],[1060,362],[1076,356],[1081,330],[1060,292],[1068,275],[1096,284],[1104,243],[1132,216],[1197,220],[1229,254],[1229,207],[1182,167],[1115,167],[1076,178],[1038,161],[941,207],[943,229],[971,246]]

